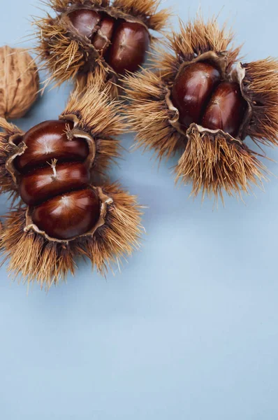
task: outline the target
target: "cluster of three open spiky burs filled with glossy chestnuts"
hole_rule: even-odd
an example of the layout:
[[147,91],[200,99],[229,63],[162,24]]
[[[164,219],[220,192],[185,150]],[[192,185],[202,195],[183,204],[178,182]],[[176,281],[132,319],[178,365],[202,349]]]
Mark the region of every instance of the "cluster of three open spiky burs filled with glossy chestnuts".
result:
[[[56,15],[36,22],[38,56],[50,80],[74,78],[75,90],[59,120],[25,134],[0,119],[0,188],[21,200],[3,225],[2,251],[16,274],[46,286],[74,271],[75,256],[104,274],[138,246],[136,198],[100,176],[126,127],[159,158],[178,151],[177,181],[194,195],[222,199],[263,179],[247,136],[278,144],[277,60],[238,62],[240,48],[215,19],[181,24],[140,70],[156,41],[151,30],[165,29],[170,15],[159,0],[50,6]],[[115,101],[118,87],[128,106]]]

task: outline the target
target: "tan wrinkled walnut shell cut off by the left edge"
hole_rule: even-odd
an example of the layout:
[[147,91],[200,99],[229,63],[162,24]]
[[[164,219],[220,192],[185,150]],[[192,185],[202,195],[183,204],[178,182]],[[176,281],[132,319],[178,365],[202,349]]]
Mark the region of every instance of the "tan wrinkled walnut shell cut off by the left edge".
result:
[[38,95],[38,69],[27,50],[0,48],[0,116],[21,118]]

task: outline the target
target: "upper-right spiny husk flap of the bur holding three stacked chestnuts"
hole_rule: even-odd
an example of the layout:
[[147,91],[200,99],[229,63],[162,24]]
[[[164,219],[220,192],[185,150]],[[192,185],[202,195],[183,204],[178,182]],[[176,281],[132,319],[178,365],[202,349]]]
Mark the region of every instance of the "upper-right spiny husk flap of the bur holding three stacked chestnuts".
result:
[[92,169],[105,174],[111,162],[119,157],[119,141],[115,137],[125,130],[124,117],[119,115],[121,102],[108,97],[109,88],[91,85],[71,93],[62,116],[78,117],[78,128],[88,132],[96,142],[96,156]]

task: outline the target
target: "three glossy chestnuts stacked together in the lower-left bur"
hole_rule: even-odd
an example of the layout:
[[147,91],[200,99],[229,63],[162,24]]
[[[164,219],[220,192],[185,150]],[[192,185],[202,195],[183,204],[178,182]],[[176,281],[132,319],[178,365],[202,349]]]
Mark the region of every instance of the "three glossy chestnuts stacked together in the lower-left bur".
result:
[[101,212],[100,200],[89,188],[87,140],[73,137],[72,130],[73,123],[64,120],[36,125],[22,137],[25,149],[14,164],[32,222],[59,240],[89,232]]

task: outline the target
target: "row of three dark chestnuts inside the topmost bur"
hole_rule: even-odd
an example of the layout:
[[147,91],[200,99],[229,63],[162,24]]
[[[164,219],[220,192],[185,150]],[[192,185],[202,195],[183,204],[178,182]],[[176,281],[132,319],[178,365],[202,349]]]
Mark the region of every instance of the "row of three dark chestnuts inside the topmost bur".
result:
[[89,38],[108,64],[119,74],[136,71],[145,61],[150,36],[144,25],[116,20],[105,13],[78,9],[68,13],[75,29]]

